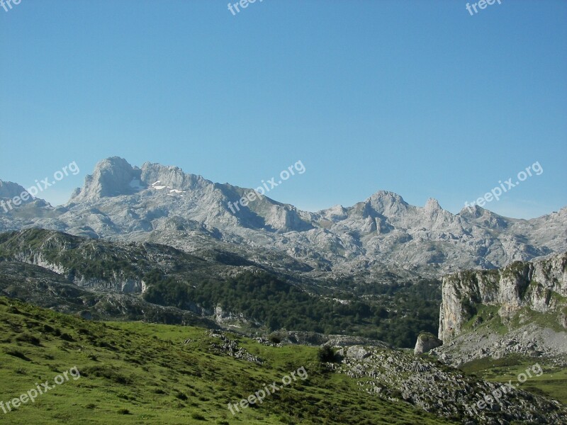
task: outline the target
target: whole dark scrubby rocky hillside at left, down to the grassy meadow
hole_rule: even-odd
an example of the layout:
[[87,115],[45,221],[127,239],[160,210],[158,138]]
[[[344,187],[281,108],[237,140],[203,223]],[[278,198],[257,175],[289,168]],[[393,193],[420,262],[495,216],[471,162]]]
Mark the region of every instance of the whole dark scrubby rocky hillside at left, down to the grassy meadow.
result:
[[184,309],[156,305],[141,296],[164,276],[196,282],[256,269],[228,253],[211,252],[209,257],[159,244],[121,244],[45,229],[6,232],[0,234],[0,293],[96,319],[213,324],[223,322],[221,312],[194,302]]

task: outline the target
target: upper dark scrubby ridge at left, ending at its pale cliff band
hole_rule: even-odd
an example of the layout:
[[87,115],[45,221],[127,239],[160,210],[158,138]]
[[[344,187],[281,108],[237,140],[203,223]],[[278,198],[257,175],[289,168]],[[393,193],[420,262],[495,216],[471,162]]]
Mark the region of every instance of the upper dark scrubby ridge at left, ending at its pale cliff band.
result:
[[[115,293],[143,293],[148,273],[215,276],[228,271],[170,246],[113,243],[45,229],[0,234],[0,260],[21,261],[53,271],[82,288]],[[219,266],[215,268],[215,266]]]

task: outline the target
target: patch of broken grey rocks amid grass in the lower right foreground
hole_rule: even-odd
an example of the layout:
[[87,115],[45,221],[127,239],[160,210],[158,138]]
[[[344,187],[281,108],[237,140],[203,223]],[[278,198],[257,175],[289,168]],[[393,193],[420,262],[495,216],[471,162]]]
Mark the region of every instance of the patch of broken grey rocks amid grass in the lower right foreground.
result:
[[408,402],[439,416],[459,418],[463,424],[567,424],[565,407],[525,392],[517,382],[498,403],[478,409],[478,402],[502,390],[502,384],[478,380],[405,351],[352,346],[338,354],[341,363],[327,363],[327,367],[357,379],[361,390],[390,401]]

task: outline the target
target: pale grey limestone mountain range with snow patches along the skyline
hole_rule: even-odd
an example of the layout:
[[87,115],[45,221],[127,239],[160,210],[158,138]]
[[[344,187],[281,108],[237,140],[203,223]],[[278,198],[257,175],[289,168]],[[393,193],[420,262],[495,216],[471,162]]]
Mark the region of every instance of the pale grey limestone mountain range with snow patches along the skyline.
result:
[[96,165],[64,207],[0,210],[0,231],[43,227],[193,254],[223,249],[290,273],[368,278],[497,268],[567,250],[567,208],[532,220],[478,206],[454,215],[434,199],[417,207],[378,191],[351,207],[308,212],[267,196],[238,203],[250,193],[178,167],[138,168],[112,157]]

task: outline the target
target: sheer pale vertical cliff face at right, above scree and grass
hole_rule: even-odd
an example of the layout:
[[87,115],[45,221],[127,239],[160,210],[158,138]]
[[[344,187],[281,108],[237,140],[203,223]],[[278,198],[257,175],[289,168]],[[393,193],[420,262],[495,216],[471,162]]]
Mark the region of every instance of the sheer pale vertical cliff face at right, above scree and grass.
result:
[[567,253],[563,253],[534,263],[512,263],[502,270],[461,271],[445,276],[439,338],[447,343],[461,334],[479,304],[498,307],[498,315],[505,322],[522,308],[560,312],[566,307],[566,266]]

